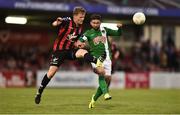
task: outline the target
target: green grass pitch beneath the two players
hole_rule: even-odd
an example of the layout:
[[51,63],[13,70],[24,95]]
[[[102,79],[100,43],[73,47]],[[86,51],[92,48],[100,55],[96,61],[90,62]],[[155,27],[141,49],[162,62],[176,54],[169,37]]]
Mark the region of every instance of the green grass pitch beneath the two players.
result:
[[45,90],[39,105],[35,88],[0,88],[0,114],[180,114],[180,90],[110,91],[112,100],[102,97],[88,109],[95,89]]

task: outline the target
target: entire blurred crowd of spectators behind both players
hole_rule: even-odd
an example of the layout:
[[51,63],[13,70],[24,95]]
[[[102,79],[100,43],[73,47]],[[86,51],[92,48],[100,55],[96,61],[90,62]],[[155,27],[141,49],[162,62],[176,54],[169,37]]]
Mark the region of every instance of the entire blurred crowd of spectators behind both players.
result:
[[[174,44],[151,43],[143,40],[130,48],[111,45],[113,70],[142,71],[180,71],[180,50]],[[0,70],[43,70],[48,69],[51,50],[41,46],[0,45]],[[67,61],[61,70],[90,70],[91,66],[82,59]]]

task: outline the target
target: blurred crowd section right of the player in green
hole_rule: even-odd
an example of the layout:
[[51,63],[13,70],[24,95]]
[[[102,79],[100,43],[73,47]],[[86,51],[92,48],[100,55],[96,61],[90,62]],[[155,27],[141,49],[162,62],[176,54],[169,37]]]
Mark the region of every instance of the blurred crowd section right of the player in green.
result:
[[115,70],[139,71],[180,71],[180,50],[173,43],[160,46],[150,40],[135,42],[129,51],[120,47],[119,58],[114,60]]

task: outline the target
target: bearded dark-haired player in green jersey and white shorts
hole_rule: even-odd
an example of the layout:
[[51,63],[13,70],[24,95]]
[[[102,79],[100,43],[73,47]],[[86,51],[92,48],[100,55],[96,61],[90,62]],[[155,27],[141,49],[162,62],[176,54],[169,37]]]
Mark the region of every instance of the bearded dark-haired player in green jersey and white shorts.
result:
[[99,68],[92,63],[94,72],[99,75],[99,87],[95,95],[92,96],[91,102],[89,103],[89,108],[93,108],[95,101],[104,94],[105,100],[111,99],[111,96],[108,93],[108,87],[111,81],[111,71],[112,71],[112,62],[111,62],[111,48],[108,40],[108,36],[120,36],[122,33],[122,24],[117,24],[118,30],[112,30],[106,27],[101,27],[101,16],[98,14],[93,14],[90,19],[91,29],[87,30],[82,37],[79,38],[80,44],[84,44],[85,41],[88,41],[90,46],[90,52],[93,56],[99,57],[104,52],[106,52],[106,59],[103,62],[104,74],[99,73]]

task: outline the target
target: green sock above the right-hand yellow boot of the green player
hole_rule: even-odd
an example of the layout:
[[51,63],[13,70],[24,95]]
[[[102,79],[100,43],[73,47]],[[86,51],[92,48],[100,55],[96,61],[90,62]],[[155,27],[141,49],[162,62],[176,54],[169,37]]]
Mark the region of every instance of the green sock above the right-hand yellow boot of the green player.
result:
[[108,87],[104,76],[99,76],[99,86],[103,94],[108,92]]

